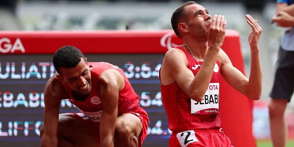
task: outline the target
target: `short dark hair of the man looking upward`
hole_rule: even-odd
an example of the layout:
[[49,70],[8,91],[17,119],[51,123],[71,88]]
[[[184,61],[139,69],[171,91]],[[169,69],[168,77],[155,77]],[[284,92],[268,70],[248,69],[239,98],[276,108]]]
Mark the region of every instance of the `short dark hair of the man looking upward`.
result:
[[171,16],[171,26],[173,27],[173,31],[175,31],[176,35],[179,38],[182,38],[182,37],[178,30],[178,24],[180,23],[180,21],[182,21],[182,18],[185,16],[184,7],[191,4],[197,4],[197,3],[195,1],[188,1],[186,4],[183,4],[182,6],[178,7],[178,9],[176,9],[176,11],[174,11],[173,15]]

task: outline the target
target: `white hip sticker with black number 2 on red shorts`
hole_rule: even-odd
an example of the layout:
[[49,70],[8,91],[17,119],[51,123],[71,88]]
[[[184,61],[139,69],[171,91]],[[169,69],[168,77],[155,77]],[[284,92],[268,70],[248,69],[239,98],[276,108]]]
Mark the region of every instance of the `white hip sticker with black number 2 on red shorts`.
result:
[[194,130],[183,131],[177,134],[177,138],[181,147],[186,147],[192,142],[198,142]]

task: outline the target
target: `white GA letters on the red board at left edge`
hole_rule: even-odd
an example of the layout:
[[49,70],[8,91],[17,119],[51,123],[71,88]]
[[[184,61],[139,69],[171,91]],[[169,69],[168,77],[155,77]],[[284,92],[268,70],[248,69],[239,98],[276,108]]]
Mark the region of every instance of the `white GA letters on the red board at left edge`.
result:
[[[0,39],[0,52],[1,53],[8,53],[9,51],[11,51],[11,53],[14,53],[14,51],[16,51],[16,50],[20,50],[22,53],[24,53],[26,51],[19,38],[16,39],[16,41],[14,42],[13,45],[10,42],[11,41],[8,38],[1,38]],[[2,48],[2,44],[3,44],[4,48]]]

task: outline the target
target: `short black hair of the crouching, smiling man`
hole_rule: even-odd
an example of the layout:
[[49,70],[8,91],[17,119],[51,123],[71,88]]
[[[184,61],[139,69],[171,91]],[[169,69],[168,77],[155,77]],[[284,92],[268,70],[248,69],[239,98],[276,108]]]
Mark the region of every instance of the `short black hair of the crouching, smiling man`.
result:
[[83,53],[74,46],[63,46],[58,49],[53,56],[53,65],[55,70],[61,75],[60,68],[73,68],[85,59]]

